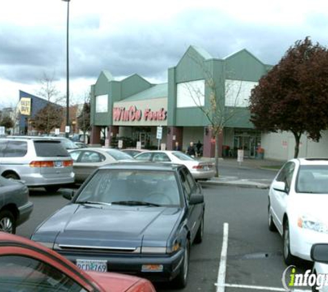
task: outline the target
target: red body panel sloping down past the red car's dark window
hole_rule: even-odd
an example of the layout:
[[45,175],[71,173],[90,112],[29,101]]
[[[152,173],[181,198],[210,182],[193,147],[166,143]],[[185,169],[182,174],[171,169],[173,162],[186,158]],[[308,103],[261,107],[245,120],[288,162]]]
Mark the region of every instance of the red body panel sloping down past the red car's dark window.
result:
[[[121,275],[117,273],[99,273],[99,272],[91,272],[91,271],[86,271],[88,275],[93,277],[95,282],[102,286],[104,291],[106,292],[125,292],[128,291],[132,286],[137,284],[137,282],[140,282],[140,286],[137,287],[135,286],[136,289],[133,289],[131,291],[135,292],[151,292],[155,291],[151,289],[151,283],[144,280],[140,279],[139,277],[133,277],[130,275]],[[139,288],[139,289],[138,289]],[[141,289],[141,288],[147,288],[147,289]]]

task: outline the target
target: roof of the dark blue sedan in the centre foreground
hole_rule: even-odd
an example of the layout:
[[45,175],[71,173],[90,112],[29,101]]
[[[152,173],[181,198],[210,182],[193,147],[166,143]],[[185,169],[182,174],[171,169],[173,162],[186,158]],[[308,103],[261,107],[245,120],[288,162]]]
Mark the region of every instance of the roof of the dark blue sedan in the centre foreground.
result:
[[118,162],[104,165],[101,170],[160,170],[160,171],[176,171],[184,167],[184,165],[176,163],[153,163],[148,161]]

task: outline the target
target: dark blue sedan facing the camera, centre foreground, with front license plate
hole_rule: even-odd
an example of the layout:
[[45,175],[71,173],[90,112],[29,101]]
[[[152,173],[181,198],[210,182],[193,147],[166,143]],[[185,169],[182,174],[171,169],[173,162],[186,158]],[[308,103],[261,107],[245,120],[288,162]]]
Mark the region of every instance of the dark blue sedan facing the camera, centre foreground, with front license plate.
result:
[[115,163],[98,169],[32,239],[81,268],[184,287],[191,244],[202,242],[204,210],[202,187],[184,165]]

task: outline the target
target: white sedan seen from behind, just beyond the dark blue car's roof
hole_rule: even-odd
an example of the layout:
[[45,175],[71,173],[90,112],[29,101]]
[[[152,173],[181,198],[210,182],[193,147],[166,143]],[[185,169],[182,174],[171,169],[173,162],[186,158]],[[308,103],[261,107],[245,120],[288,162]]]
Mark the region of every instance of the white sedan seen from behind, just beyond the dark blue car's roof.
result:
[[197,180],[211,179],[215,176],[213,163],[197,161],[180,151],[148,151],[136,155],[135,159],[137,161],[169,162],[186,165]]

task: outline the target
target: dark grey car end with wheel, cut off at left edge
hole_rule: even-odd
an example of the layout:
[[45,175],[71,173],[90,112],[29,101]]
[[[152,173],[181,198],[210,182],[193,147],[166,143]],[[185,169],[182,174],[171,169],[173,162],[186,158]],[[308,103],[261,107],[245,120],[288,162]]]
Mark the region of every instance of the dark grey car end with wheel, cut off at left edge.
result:
[[32,210],[28,187],[0,176],[0,231],[15,234],[16,227],[28,220]]

